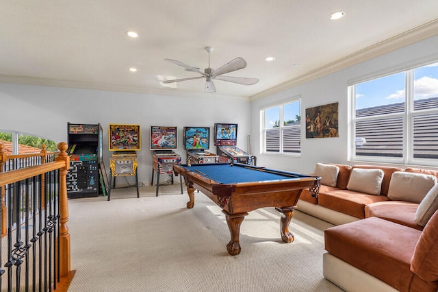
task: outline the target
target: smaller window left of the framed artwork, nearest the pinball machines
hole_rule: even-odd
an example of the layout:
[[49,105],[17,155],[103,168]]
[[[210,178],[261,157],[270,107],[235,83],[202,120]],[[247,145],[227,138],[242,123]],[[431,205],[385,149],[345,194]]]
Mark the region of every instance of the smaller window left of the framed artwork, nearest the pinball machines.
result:
[[260,111],[263,153],[300,154],[300,99]]

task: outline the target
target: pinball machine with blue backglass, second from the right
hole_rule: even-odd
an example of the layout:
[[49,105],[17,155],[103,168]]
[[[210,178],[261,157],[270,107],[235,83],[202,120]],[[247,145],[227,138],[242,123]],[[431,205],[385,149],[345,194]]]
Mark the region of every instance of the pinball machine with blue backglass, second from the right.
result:
[[209,127],[184,127],[184,148],[187,164],[217,163],[219,156],[208,151],[210,147]]

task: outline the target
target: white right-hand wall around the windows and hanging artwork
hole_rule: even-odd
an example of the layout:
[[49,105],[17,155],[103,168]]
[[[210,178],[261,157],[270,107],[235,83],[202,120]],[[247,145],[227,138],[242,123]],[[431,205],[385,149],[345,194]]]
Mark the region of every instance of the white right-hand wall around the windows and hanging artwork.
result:
[[[438,36],[428,38],[414,45],[409,45],[397,51],[387,53],[378,58],[367,60],[347,69],[337,71],[317,80],[301,84],[281,93],[253,101],[251,104],[251,144],[253,154],[257,155],[257,165],[311,173],[316,162],[337,162],[353,165],[348,161],[348,92],[347,84],[352,80],[364,80],[383,73],[407,69],[424,62],[438,61]],[[324,104],[339,102],[339,137],[337,138],[305,138],[305,126],[302,125],[301,156],[279,156],[260,154],[260,114],[263,106],[269,106],[276,101],[300,95],[301,117],[305,117],[305,109]]]

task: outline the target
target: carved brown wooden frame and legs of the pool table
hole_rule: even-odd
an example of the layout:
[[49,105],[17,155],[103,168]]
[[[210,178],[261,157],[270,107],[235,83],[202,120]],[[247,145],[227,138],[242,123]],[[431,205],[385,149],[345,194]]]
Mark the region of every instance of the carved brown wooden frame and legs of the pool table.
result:
[[[263,167],[250,167],[255,171],[264,171]],[[187,186],[187,193],[190,201],[187,208],[194,206],[194,191],[198,189],[213,202],[222,208],[225,214],[231,241],[227,244],[227,251],[232,256],[240,254],[240,225],[248,212],[264,207],[275,207],[281,213],[280,232],[281,239],[285,243],[294,241],[294,234],[289,231],[289,223],[294,216],[294,209],[304,188],[310,188],[315,195],[320,188],[320,177],[302,175],[301,178],[285,180],[273,180],[262,182],[241,182],[232,184],[221,184],[201,173],[190,171],[185,165],[174,165],[175,173],[182,175]],[[277,174],[287,172],[278,171]]]

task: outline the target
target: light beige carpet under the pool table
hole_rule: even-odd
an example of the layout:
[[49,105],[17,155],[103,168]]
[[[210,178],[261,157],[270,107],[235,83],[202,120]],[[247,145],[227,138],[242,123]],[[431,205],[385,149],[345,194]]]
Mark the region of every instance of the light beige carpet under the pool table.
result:
[[300,212],[283,243],[274,208],[250,212],[240,230],[242,252],[227,253],[221,209],[203,193],[185,208],[179,184],[112,190],[70,199],[68,291],[342,291],[322,276],[323,230],[329,223]]

